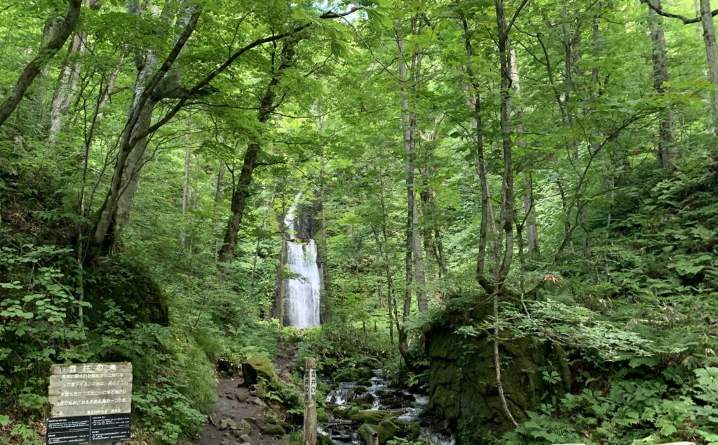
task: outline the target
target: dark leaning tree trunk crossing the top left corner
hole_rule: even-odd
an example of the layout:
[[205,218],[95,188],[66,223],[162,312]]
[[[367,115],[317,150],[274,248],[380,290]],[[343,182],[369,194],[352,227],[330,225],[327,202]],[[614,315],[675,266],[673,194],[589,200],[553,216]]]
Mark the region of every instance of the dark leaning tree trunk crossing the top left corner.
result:
[[25,95],[25,91],[45,68],[48,62],[55,57],[57,51],[65,45],[67,38],[73,32],[73,29],[78,24],[80,19],[80,6],[82,0],[70,0],[70,8],[67,10],[65,19],[57,24],[57,28],[52,32],[50,40],[43,45],[37,56],[27,64],[25,69],[17,79],[15,86],[9,93],[9,96],[5,98],[5,101],[0,105],[0,126],[9,118],[13,111],[17,108],[22,97]]

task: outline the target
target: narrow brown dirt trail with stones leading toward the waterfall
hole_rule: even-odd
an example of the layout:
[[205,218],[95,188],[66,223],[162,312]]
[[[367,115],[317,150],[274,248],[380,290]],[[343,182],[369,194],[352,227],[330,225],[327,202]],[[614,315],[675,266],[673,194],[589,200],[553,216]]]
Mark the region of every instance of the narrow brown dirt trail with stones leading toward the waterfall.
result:
[[[297,347],[279,344],[274,366],[279,378],[287,380],[289,364]],[[197,439],[197,445],[287,445],[280,436],[267,428],[265,410],[257,398],[249,393],[241,376],[220,377],[217,385],[217,405]],[[263,432],[264,431],[264,432]]]

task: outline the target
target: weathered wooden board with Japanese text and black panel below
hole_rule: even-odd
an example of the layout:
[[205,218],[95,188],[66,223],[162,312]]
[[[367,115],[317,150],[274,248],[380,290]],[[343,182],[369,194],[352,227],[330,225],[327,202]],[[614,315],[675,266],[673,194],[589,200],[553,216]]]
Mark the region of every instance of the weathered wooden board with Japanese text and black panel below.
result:
[[129,441],[132,364],[54,364],[47,393],[47,445]]

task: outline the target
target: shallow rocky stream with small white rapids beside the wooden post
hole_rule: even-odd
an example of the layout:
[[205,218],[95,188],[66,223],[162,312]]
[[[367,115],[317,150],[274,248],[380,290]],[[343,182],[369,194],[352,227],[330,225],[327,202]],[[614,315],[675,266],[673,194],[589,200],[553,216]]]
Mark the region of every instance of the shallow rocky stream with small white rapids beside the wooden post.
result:
[[[329,422],[320,423],[320,433],[330,436],[336,445],[363,445],[357,428],[360,425],[352,421],[332,418],[332,408],[354,404],[371,404],[365,411],[387,410],[399,413],[396,421],[410,423],[421,420],[421,411],[429,403],[429,396],[410,393],[408,390],[393,388],[387,385],[381,370],[372,370],[370,386],[360,387],[356,382],[340,382],[327,394],[327,412]],[[365,389],[365,392],[364,392]],[[431,445],[454,445],[453,436],[421,428],[419,440],[428,441]]]

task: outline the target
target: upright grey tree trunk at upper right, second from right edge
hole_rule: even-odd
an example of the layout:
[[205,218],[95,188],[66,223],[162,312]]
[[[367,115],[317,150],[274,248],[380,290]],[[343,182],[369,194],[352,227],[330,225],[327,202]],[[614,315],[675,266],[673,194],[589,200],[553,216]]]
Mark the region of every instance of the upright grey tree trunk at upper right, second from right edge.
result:
[[[661,0],[654,0],[661,7]],[[653,88],[659,96],[663,96],[663,83],[668,81],[668,55],[666,54],[666,35],[663,33],[661,16],[648,8],[648,27],[651,29],[653,42]],[[661,110],[658,121],[658,161],[664,170],[673,171],[673,145],[676,132],[673,129],[673,111],[668,106]]]

